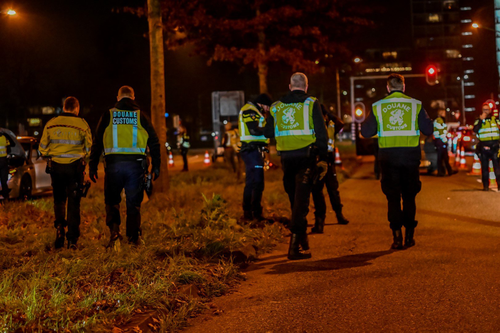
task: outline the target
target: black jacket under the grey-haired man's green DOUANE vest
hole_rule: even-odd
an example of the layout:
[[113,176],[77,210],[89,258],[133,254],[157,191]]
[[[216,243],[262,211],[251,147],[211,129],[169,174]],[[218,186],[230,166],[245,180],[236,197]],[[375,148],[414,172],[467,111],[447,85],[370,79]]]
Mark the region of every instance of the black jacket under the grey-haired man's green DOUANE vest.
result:
[[[303,90],[293,90],[290,91],[285,96],[279,99],[280,102],[289,104],[289,103],[303,103],[310,95],[306,94]],[[326,161],[328,155],[328,134],[326,132],[326,125],[324,123],[323,114],[321,112],[321,106],[319,101],[315,101],[312,106],[312,122],[314,124],[314,134],[316,136],[316,142],[314,146],[318,150],[319,159],[322,161]],[[266,118],[266,124],[264,127],[264,136],[266,138],[274,138],[274,118],[269,113]],[[308,147],[304,147],[302,149],[297,149],[296,151],[287,151],[281,152],[281,156],[285,156],[286,154],[294,154],[296,155],[297,151],[303,150],[304,153],[307,153]]]

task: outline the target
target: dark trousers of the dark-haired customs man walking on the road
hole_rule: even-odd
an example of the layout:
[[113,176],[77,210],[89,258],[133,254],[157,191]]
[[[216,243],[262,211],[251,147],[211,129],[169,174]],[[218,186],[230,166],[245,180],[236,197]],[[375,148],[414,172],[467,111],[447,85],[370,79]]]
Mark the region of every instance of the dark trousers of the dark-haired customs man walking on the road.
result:
[[380,161],[380,183],[387,197],[387,219],[392,230],[416,227],[415,197],[422,187],[419,166],[419,160]]

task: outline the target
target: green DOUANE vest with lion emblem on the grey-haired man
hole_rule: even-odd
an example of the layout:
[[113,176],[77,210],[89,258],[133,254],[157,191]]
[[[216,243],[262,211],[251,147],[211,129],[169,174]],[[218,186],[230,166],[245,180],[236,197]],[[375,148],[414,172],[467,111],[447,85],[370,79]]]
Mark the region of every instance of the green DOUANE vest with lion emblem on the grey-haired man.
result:
[[312,122],[312,107],[315,100],[313,97],[308,97],[303,103],[278,101],[271,106],[277,150],[301,149],[316,142]]

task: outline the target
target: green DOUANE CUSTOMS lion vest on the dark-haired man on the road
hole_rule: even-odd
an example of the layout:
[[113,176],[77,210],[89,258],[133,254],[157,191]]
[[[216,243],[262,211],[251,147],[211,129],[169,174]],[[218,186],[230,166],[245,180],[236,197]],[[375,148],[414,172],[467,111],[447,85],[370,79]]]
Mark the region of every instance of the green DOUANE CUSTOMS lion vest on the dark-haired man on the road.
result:
[[418,113],[421,102],[395,92],[373,104],[380,148],[416,147],[419,144]]

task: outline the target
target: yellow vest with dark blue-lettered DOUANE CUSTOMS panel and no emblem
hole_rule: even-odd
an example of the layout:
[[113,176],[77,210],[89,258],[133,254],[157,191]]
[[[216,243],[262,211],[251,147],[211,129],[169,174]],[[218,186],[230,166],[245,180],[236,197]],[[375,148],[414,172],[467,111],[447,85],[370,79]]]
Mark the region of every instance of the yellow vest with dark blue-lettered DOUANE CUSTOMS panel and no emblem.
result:
[[140,111],[109,110],[109,125],[104,130],[105,154],[145,154],[148,134],[140,125]]

